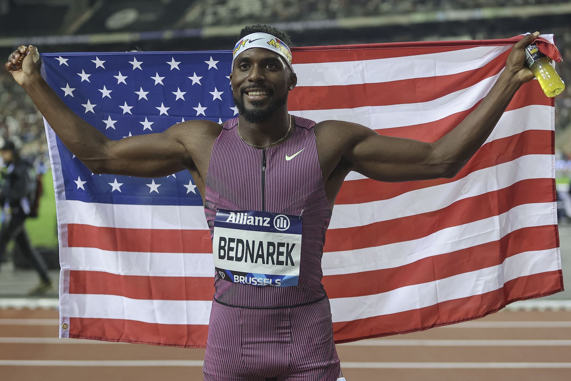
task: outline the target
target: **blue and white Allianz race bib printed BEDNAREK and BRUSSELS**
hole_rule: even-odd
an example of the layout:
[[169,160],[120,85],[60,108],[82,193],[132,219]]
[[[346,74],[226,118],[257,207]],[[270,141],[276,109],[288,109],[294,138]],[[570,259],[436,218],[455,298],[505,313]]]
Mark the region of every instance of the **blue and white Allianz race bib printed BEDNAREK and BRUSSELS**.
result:
[[212,240],[218,277],[252,286],[296,286],[301,227],[300,216],[218,209]]

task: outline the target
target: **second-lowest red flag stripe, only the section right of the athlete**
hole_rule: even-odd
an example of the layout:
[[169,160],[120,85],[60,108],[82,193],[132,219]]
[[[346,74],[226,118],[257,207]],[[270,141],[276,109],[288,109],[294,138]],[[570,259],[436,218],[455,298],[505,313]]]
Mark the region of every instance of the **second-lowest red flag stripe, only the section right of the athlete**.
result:
[[[430,256],[404,266],[324,276],[323,285],[329,298],[333,299],[381,294],[411,284],[434,282],[464,272],[497,266],[509,256],[520,252],[555,248],[558,242],[553,230],[553,225],[526,227],[493,242]],[[351,284],[351,287],[347,287],[347,284]]]

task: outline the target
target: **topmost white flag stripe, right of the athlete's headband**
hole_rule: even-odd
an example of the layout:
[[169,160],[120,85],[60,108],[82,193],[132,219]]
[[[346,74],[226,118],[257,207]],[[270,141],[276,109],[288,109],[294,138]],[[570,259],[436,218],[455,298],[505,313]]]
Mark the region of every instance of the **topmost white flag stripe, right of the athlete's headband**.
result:
[[511,46],[477,46],[468,49],[363,61],[296,63],[297,86],[344,86],[361,83],[429,78],[475,70]]

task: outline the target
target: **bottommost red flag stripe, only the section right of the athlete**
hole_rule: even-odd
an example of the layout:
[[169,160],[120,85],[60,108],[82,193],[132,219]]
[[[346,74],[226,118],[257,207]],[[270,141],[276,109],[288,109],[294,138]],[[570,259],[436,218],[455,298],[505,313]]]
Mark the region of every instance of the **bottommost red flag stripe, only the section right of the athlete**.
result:
[[509,280],[504,287],[485,294],[448,300],[396,314],[333,323],[335,343],[424,331],[432,327],[478,319],[516,300],[540,298],[563,291],[562,279],[561,270],[541,272]]

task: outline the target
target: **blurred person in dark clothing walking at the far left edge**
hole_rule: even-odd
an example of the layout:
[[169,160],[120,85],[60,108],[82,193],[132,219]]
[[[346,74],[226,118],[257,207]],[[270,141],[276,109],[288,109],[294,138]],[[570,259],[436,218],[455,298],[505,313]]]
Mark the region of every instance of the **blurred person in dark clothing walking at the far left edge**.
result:
[[40,282],[30,291],[30,295],[42,295],[51,290],[51,280],[47,274],[46,262],[34,250],[28,238],[24,222],[32,212],[37,195],[37,182],[33,167],[22,159],[18,149],[7,141],[0,149],[5,165],[0,188],[0,204],[3,206],[2,228],[0,229],[0,264],[11,239],[21,248],[31,265],[38,272]]

